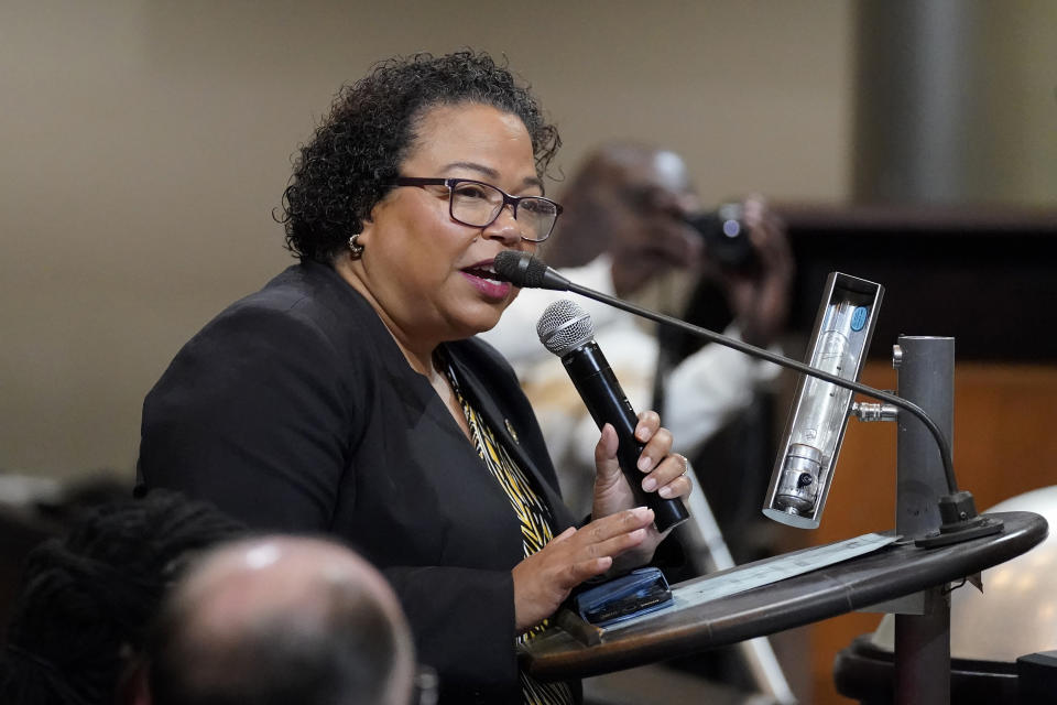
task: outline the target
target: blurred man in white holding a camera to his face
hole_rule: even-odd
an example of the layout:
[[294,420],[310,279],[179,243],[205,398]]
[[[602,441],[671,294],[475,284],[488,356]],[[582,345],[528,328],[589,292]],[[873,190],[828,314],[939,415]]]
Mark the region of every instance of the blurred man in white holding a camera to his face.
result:
[[[733,204],[737,232],[705,214],[683,160],[654,147],[614,142],[589,154],[560,194],[565,212],[542,257],[569,280],[756,346],[784,329],[793,258],[780,219],[760,197]],[[540,416],[570,507],[587,513],[597,435],[557,357],[535,324],[570,294],[524,290],[484,334],[514,365]],[[595,339],[634,409],[657,409],[690,456],[747,409],[777,369],[719,345],[700,347],[604,304],[571,296],[591,316]]]

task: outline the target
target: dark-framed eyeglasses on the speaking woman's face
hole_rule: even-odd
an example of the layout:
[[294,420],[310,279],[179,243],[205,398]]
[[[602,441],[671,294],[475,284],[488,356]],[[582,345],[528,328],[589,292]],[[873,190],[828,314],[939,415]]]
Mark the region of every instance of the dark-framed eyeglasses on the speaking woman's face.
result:
[[447,186],[448,214],[451,219],[473,228],[495,223],[503,207],[510,204],[521,239],[543,242],[551,237],[562,215],[562,205],[543,196],[511,196],[502,188],[472,178],[419,178],[400,176],[394,186]]

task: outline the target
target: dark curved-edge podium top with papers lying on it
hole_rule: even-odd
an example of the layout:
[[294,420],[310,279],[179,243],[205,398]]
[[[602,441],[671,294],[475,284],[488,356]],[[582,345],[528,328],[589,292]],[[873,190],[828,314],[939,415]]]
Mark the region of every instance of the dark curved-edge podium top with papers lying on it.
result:
[[[541,680],[586,677],[653,663],[959,581],[1025,553],[1046,538],[1046,520],[1038,514],[1015,511],[985,516],[1001,519],[1002,531],[929,549],[898,541],[777,583],[644,616],[619,629],[603,630],[599,643],[592,646],[552,627],[525,644],[520,659],[523,668]],[[749,565],[753,564],[742,567]],[[709,577],[679,583],[673,586],[673,593],[678,597],[680,589],[691,589],[693,584]]]

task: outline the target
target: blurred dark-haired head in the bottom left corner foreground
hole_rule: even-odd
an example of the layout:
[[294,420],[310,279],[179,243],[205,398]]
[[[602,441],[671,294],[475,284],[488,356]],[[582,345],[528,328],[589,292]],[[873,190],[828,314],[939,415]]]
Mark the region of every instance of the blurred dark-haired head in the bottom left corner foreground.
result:
[[0,702],[113,703],[187,562],[242,532],[211,505],[163,490],[87,509],[26,560]]

